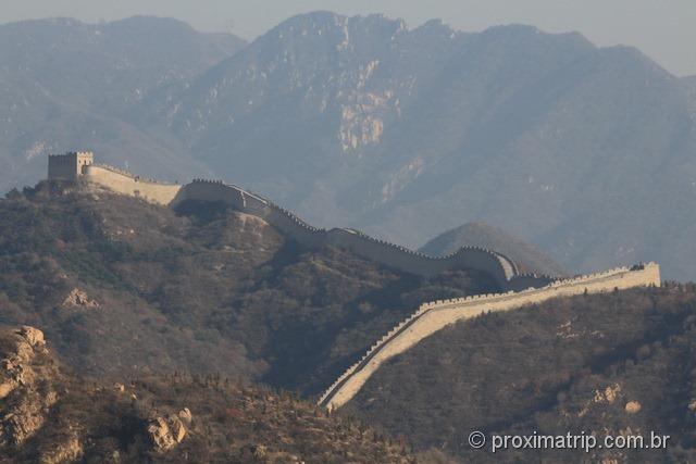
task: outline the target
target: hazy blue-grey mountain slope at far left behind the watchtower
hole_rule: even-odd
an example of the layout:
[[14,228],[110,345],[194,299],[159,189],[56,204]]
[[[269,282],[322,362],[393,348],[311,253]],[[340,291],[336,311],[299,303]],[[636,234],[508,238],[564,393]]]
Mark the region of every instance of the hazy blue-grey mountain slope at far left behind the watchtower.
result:
[[46,152],[91,147],[112,164],[166,177],[206,172],[177,143],[127,113],[156,88],[174,91],[245,42],[165,18],[90,25],[53,18],[0,25],[0,190],[34,184]]

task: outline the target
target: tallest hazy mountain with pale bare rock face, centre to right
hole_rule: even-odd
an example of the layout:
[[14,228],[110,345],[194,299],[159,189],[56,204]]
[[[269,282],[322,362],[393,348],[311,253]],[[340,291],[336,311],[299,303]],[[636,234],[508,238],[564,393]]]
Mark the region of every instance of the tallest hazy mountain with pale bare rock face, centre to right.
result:
[[635,49],[312,13],[150,110],[220,176],[318,225],[412,246],[485,221],[569,268],[696,276],[684,87]]

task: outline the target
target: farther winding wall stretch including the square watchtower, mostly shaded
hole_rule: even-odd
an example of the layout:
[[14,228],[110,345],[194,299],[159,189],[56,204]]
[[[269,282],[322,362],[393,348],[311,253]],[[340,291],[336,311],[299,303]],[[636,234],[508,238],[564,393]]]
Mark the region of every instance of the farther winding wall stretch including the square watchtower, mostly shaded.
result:
[[105,188],[172,208],[185,201],[223,203],[263,218],[310,249],[324,246],[345,248],[361,258],[411,274],[433,276],[450,269],[475,269],[490,275],[504,291],[542,287],[554,280],[551,276],[521,273],[515,263],[493,250],[464,247],[447,256],[428,256],[374,239],[359,230],[313,227],[272,201],[234,185],[203,179],[195,179],[184,186],[160,183],[95,164],[90,152],[49,156],[49,178],[79,180],[92,189]]

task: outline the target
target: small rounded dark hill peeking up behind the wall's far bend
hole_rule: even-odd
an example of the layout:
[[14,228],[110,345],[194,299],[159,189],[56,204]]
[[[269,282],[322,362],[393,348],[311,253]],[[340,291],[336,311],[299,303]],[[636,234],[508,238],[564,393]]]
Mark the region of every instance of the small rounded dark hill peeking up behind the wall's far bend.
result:
[[430,240],[419,251],[431,256],[444,256],[465,246],[496,250],[510,258],[525,272],[550,276],[567,274],[558,263],[534,246],[485,223],[468,223],[447,230]]

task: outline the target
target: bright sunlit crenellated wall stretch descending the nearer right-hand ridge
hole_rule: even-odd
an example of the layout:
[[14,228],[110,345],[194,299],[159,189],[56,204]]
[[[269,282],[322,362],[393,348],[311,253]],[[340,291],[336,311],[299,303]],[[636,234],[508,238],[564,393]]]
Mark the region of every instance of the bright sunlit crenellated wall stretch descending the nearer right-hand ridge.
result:
[[660,269],[657,264],[649,263],[631,269],[621,267],[605,273],[557,280],[543,288],[520,292],[482,294],[422,304],[413,315],[382,337],[359,362],[338,377],[320,398],[319,404],[328,410],[340,407],[360,391],[382,363],[458,321],[469,319],[486,312],[510,311],[551,298],[641,286],[660,286]]

